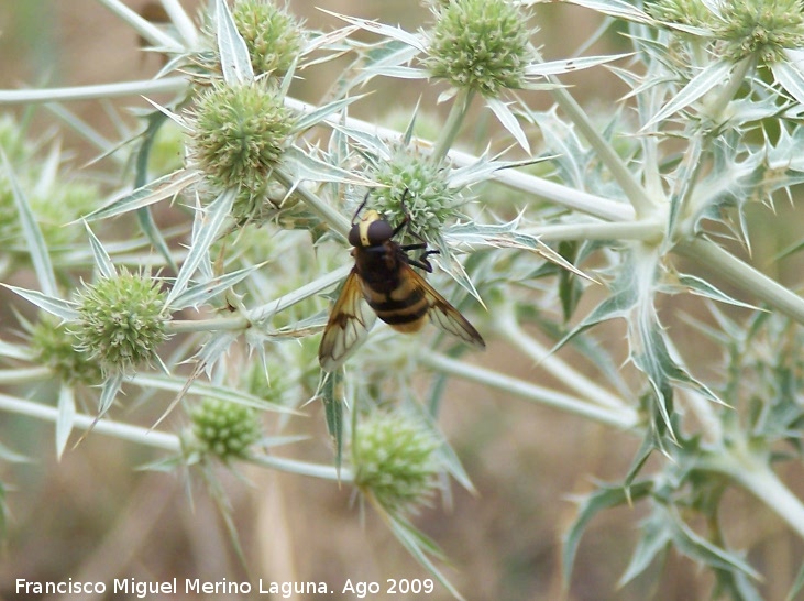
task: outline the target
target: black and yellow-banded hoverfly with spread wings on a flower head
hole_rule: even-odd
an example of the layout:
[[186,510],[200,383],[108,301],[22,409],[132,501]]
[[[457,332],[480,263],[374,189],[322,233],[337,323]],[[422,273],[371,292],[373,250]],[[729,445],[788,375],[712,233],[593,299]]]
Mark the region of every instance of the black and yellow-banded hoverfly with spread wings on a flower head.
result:
[[[405,210],[405,195],[401,206]],[[399,244],[394,238],[410,217],[405,215],[395,228],[377,211],[368,210],[359,220],[368,196],[352,219],[349,243],[354,247],[354,267],[346,276],[341,294],[323,330],[318,360],[324,371],[334,371],[363,342],[377,317],[401,332],[419,331],[429,317],[443,331],[464,342],[484,349],[486,343],[460,312],[416,273],[418,267],[432,273],[427,260],[437,250],[427,250],[423,240],[416,244]],[[408,252],[420,250],[418,259]],[[372,310],[366,310],[365,305]]]

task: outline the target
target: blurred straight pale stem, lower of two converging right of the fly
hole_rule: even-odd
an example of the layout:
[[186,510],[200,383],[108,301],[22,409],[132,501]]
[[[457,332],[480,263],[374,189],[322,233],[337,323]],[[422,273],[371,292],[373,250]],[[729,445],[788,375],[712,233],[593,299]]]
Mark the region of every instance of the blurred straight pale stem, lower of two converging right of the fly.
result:
[[472,365],[466,361],[450,359],[431,350],[422,349],[420,359],[433,370],[519,396],[531,403],[554,407],[566,413],[574,413],[593,422],[623,430],[639,426],[639,415],[629,407],[614,409],[592,405],[579,401],[575,396],[538,386],[525,380],[504,375],[499,372],[481,368],[480,365]]

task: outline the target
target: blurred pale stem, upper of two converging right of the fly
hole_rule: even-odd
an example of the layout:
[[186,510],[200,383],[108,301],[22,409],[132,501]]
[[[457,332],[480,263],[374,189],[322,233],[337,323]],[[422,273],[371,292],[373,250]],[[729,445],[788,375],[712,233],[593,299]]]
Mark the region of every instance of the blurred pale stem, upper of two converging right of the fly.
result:
[[499,307],[499,310],[495,312],[495,316],[497,334],[536,361],[539,368],[563,382],[566,387],[596,405],[614,409],[627,408],[619,396],[598,386],[528,336],[515,319],[513,310]]

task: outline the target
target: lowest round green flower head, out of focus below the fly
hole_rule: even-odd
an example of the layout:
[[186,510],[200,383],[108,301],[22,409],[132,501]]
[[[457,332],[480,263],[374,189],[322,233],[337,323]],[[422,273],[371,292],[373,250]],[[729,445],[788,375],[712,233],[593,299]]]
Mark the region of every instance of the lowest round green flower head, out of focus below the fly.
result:
[[354,483],[388,511],[414,511],[438,485],[439,441],[416,420],[376,413],[359,427],[352,448]]

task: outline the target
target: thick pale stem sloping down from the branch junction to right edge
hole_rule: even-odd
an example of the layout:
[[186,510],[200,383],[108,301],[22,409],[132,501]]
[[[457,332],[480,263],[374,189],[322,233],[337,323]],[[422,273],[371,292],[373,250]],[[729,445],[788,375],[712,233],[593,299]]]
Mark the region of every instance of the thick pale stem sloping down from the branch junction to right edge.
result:
[[697,265],[705,266],[713,273],[725,277],[746,295],[759,298],[804,325],[804,299],[801,296],[744,263],[714,242],[695,239],[676,245],[674,251],[695,261]]

